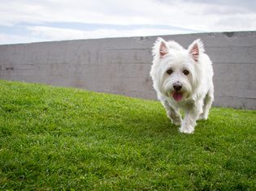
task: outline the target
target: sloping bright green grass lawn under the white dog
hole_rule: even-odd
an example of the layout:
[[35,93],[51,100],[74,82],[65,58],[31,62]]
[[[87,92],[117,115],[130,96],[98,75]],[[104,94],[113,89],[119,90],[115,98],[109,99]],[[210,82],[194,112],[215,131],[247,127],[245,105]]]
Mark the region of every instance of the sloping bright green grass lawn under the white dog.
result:
[[0,81],[0,190],[255,190],[256,111],[180,134],[158,101]]

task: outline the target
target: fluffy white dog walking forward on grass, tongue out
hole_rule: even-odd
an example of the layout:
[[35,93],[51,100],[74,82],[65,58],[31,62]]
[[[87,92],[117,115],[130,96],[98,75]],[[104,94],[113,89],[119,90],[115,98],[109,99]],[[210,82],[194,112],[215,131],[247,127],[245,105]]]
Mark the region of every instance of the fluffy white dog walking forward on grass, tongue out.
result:
[[[181,125],[181,133],[192,134],[197,119],[207,119],[214,99],[212,63],[204,51],[200,39],[194,40],[188,49],[162,38],[154,43],[150,71],[153,87],[167,117]],[[184,120],[180,108],[184,110]]]

